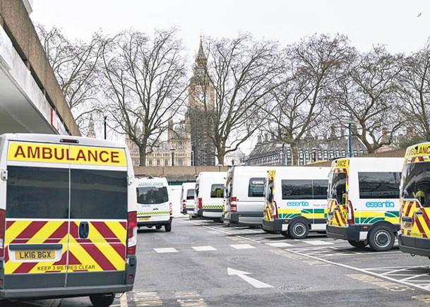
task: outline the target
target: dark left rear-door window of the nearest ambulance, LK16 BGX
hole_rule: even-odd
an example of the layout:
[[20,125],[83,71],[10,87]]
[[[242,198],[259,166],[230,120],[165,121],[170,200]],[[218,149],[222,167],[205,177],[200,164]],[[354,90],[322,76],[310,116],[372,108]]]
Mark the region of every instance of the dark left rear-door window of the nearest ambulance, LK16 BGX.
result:
[[8,167],[6,217],[68,218],[68,169]]

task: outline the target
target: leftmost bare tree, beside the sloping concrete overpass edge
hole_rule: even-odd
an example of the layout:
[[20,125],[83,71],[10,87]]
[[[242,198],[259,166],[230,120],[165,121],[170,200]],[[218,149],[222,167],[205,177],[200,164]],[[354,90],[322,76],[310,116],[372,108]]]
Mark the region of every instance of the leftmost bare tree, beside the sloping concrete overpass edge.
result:
[[99,109],[102,36],[96,32],[90,42],[69,40],[59,28],[36,25],[49,64],[81,132],[88,128],[88,115]]

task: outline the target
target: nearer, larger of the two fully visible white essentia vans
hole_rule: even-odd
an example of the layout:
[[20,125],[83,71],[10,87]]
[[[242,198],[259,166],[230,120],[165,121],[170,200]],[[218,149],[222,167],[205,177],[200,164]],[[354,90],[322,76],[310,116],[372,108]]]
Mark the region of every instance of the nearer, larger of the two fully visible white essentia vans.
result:
[[327,236],[374,251],[393,247],[400,229],[402,158],[352,157],[332,162]]

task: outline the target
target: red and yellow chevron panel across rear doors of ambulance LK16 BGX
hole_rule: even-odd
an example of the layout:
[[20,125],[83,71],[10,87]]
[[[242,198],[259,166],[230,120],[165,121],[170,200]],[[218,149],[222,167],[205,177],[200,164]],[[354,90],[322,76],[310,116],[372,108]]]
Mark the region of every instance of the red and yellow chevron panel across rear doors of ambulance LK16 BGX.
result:
[[[70,222],[69,236],[68,222],[6,220],[5,274],[125,270],[126,221],[93,221],[89,224],[88,238],[79,239],[79,221]],[[61,258],[52,261],[11,260],[11,253],[16,253],[9,251],[11,244],[42,243],[62,244]]]

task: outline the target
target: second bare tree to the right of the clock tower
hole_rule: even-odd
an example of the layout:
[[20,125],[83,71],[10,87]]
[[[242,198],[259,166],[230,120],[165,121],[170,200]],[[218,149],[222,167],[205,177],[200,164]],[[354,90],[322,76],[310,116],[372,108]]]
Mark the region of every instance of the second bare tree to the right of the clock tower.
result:
[[270,92],[274,103],[265,111],[270,133],[291,146],[293,165],[298,164],[299,141],[327,124],[327,92],[353,51],[343,35],[313,35],[285,49],[283,81]]

